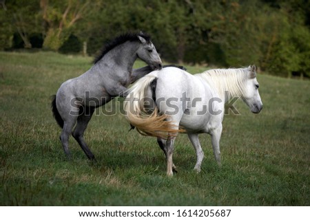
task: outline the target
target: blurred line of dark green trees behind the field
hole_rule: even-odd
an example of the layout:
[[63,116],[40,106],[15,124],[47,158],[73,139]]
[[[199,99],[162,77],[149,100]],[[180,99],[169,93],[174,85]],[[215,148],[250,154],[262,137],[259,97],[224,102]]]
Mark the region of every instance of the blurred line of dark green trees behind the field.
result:
[[308,0],[0,0],[0,50],[93,55],[123,32],[149,33],[165,61],[256,64],[310,77]]

